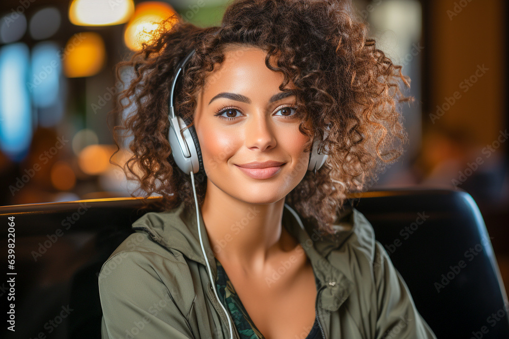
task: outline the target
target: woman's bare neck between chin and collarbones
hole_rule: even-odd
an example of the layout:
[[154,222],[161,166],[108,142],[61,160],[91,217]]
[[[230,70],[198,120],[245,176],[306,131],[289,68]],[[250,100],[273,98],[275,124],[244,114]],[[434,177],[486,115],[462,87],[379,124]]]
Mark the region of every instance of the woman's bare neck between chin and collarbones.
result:
[[207,183],[201,207],[214,256],[246,275],[263,274],[270,263],[298,245],[282,227],[285,198],[268,204],[253,204],[232,197]]

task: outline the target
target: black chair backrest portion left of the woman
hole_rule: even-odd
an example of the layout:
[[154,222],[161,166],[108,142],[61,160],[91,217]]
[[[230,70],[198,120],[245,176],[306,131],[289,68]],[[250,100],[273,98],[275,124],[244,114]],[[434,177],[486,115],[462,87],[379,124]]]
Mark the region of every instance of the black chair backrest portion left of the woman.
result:
[[[0,337],[100,338],[98,274],[133,232],[142,206],[142,199],[120,198],[0,207],[3,249],[14,217],[15,263],[7,269],[16,273],[4,275],[16,281],[16,331],[2,326]],[[9,292],[5,281],[0,294]]]

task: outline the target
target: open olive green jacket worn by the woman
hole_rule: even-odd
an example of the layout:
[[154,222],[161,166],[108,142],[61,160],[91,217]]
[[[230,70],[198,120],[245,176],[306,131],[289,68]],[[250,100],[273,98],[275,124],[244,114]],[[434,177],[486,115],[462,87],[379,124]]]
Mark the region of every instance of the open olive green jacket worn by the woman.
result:
[[[203,257],[196,211],[186,213],[183,206],[138,219],[132,225],[136,232],[103,264],[103,338],[230,339],[227,315],[212,290]],[[338,215],[336,236],[322,236],[303,224],[287,204],[282,225],[301,243],[320,281],[315,311],[324,339],[436,339],[358,210],[348,207]],[[241,226],[232,225],[232,235]],[[215,279],[201,213],[200,227]],[[234,337],[240,339],[230,321]]]

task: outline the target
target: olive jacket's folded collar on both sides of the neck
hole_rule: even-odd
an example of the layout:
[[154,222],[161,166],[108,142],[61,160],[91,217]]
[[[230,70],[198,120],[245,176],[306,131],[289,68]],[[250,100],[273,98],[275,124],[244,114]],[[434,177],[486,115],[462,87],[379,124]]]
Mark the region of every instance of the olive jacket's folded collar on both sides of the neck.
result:
[[[214,253],[210,247],[201,211],[198,214],[203,247],[215,278],[217,268]],[[337,310],[354,288],[354,284],[326,258],[331,251],[340,248],[354,232],[356,223],[353,208],[345,204],[344,209],[336,216],[336,222],[333,224],[337,230],[335,235],[321,235],[312,225],[302,222],[299,214],[288,204],[285,204],[283,210],[282,225],[302,245],[321,286],[326,287],[322,307],[329,311]],[[132,224],[132,229],[147,232],[154,241],[173,255],[182,254],[206,266],[196,224],[196,209],[185,209],[184,202],[168,211],[144,214]]]

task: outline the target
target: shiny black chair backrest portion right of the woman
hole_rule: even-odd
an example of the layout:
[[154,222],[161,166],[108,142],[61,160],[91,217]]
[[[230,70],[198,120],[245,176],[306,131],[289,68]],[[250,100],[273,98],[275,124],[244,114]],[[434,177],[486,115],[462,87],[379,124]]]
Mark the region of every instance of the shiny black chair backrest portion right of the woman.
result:
[[509,303],[479,209],[466,192],[368,192],[369,220],[438,338],[509,338]]

